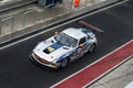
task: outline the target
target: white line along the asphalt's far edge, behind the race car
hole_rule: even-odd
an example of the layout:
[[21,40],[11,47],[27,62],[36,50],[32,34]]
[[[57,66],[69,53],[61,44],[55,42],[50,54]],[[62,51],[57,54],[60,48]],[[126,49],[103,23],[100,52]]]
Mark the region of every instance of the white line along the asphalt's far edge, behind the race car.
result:
[[[49,30],[44,30],[44,31],[42,31],[42,32],[39,32],[39,33],[37,33],[37,34],[34,34],[34,35],[31,35],[31,36],[29,36],[29,37],[25,37],[25,38],[23,38],[23,40],[13,42],[13,43],[11,43],[11,44],[8,44],[8,45],[6,45],[6,46],[0,47],[0,51],[1,51],[1,50],[4,50],[4,48],[7,48],[7,47],[10,47],[10,46],[12,46],[12,45],[16,45],[16,44],[18,44],[18,43],[21,43],[21,42],[23,42],[23,41],[27,41],[27,40],[30,40],[30,38],[32,38],[32,37],[35,37],[35,36],[38,36],[38,35],[41,35],[41,34],[43,34],[43,33],[47,33],[47,32],[49,32],[49,31],[55,30],[55,29],[58,29],[58,28],[61,28],[61,26],[63,26],[63,25],[66,25],[66,24],[69,24],[69,23],[72,23],[72,22],[74,22],[74,21],[78,21],[78,20],[81,20],[81,19],[83,19],[83,18],[90,16],[90,15],[92,15],[92,14],[99,13],[99,12],[104,11],[104,10],[106,10],[106,9],[116,7],[116,6],[122,4],[122,3],[126,2],[126,1],[129,1],[129,0],[124,0],[124,1],[117,2],[117,3],[115,3],[115,4],[105,7],[105,8],[103,8],[103,9],[96,10],[96,11],[91,12],[91,13],[89,13],[89,14],[85,14],[85,15],[83,15],[83,16],[80,16],[80,18],[76,18],[76,19],[74,19],[74,20],[68,21],[68,22],[65,22],[65,23],[62,23],[62,24],[57,25],[57,26],[54,26],[54,28],[51,28],[51,29],[49,29]],[[57,22],[55,22],[55,23],[57,23]],[[41,29],[43,29],[43,28],[41,28]]]

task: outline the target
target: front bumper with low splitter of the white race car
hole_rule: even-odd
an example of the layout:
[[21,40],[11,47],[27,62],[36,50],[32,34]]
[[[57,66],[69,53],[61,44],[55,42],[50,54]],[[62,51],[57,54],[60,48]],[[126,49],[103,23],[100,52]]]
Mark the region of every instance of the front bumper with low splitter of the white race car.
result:
[[53,68],[53,69],[57,69],[60,67],[60,64],[53,64],[50,62],[48,63],[48,62],[40,61],[40,58],[37,58],[33,53],[30,55],[30,58],[31,58],[31,61],[33,61],[44,67],[49,67],[49,68]]

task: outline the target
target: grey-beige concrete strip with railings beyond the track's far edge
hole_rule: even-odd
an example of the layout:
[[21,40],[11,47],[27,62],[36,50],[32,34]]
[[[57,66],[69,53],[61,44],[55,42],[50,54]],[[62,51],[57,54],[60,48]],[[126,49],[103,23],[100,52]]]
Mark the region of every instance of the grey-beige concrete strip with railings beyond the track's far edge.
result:
[[102,2],[100,3],[98,3],[100,0],[89,0],[86,7],[83,7],[83,4],[85,4],[84,1],[85,0],[81,2],[78,9],[70,7],[71,2],[68,2],[68,4],[64,2],[63,6],[59,4],[52,9],[43,9],[31,4],[30,7],[19,9],[19,11],[16,9],[14,11],[3,13],[1,14],[0,43],[14,40],[39,29],[65,21],[117,0],[101,0]]

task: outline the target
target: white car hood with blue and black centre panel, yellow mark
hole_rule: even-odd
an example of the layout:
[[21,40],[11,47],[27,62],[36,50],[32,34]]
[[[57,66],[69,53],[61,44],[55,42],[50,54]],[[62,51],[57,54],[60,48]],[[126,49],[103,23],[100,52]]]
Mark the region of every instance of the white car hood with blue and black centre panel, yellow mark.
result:
[[71,53],[73,47],[64,46],[58,42],[39,43],[33,52],[41,58],[48,62],[58,61],[61,56]]

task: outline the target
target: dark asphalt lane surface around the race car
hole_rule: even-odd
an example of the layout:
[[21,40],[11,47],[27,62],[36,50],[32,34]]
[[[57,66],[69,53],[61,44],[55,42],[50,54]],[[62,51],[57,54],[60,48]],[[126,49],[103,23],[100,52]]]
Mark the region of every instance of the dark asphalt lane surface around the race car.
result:
[[[18,43],[0,51],[0,87],[1,88],[49,88],[63,78],[88,66],[103,55],[123,45],[133,38],[133,1],[95,13],[83,20],[104,30],[101,35],[96,33],[99,45],[93,54],[86,54],[59,70],[48,70],[31,63],[29,54],[34,45],[54,34],[47,32],[31,40]],[[72,22],[60,29],[80,28]]]

